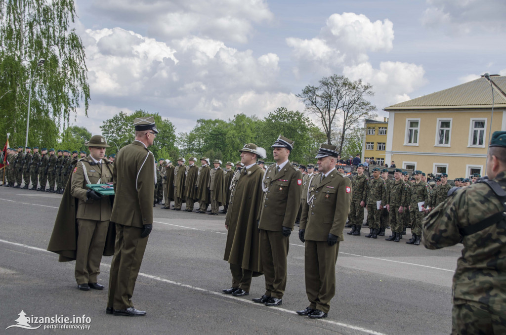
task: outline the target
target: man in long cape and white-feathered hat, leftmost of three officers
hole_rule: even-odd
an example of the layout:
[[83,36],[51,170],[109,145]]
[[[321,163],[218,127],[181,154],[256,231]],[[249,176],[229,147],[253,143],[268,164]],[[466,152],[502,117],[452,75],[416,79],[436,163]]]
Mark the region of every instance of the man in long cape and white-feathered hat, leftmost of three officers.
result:
[[262,210],[264,170],[257,164],[257,159],[265,149],[259,150],[253,143],[247,143],[239,150],[244,168],[232,188],[225,218],[228,234],[223,259],[230,264],[232,287],[223,292],[236,297],[247,296],[252,276],[261,274],[258,219]]

